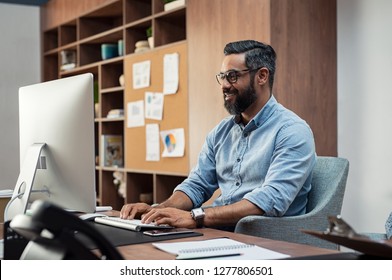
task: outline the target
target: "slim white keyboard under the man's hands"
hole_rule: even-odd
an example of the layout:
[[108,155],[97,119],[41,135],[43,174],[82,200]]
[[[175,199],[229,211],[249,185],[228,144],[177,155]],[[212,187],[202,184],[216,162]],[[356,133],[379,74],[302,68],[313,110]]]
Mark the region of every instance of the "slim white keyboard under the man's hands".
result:
[[143,224],[139,219],[127,220],[121,219],[120,217],[96,217],[94,222],[99,224],[104,224],[112,227],[118,227],[122,229],[132,230],[132,231],[142,231],[145,229],[165,229],[173,228],[169,225],[157,225],[155,223]]

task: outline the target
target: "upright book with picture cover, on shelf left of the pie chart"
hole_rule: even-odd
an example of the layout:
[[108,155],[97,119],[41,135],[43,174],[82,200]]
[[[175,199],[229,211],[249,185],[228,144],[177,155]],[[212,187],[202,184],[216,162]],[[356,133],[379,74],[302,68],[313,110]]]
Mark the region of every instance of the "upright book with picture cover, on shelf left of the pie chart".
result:
[[122,167],[123,165],[122,135],[101,135],[101,166]]

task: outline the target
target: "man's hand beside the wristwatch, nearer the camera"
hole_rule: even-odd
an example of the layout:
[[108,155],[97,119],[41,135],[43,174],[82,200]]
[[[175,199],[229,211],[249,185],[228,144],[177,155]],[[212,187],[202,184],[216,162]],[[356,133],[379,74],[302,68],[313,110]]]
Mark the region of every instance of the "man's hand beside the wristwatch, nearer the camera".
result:
[[142,216],[143,223],[168,224],[173,227],[196,228],[189,211],[180,210],[172,207],[152,208]]

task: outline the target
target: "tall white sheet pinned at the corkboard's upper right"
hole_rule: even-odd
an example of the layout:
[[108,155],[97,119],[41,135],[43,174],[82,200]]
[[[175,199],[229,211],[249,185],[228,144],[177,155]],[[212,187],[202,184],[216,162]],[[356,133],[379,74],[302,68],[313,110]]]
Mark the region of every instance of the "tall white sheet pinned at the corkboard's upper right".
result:
[[174,94],[178,90],[179,81],[178,53],[165,54],[163,57],[163,93]]

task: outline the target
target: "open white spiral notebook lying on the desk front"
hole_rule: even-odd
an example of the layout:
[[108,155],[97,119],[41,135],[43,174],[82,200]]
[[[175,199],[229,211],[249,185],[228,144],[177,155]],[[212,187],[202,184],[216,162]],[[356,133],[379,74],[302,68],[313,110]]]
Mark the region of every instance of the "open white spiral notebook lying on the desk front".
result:
[[282,259],[289,255],[230,238],[216,238],[190,242],[152,243],[156,248],[176,255],[178,260],[224,259],[263,260]]

